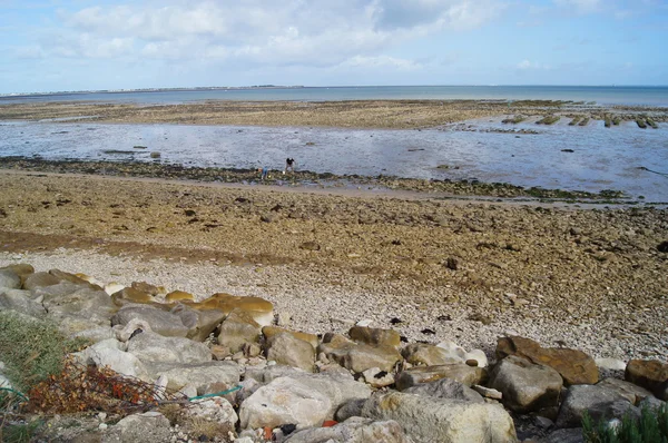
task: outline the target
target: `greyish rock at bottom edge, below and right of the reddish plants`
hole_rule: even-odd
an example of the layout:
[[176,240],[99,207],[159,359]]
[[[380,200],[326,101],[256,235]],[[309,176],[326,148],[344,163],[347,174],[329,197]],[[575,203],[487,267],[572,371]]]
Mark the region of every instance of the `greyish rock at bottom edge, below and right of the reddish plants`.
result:
[[129,415],[102,434],[102,442],[169,442],[171,430],[169,420],[159,412]]

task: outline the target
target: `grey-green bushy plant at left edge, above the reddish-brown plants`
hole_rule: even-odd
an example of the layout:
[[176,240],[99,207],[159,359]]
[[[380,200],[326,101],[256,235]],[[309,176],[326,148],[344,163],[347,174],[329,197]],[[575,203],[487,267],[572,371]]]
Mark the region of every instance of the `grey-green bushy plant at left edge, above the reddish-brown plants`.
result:
[[65,356],[88,344],[68,339],[50,322],[11,311],[0,312],[0,355],[4,375],[21,392],[62,371]]

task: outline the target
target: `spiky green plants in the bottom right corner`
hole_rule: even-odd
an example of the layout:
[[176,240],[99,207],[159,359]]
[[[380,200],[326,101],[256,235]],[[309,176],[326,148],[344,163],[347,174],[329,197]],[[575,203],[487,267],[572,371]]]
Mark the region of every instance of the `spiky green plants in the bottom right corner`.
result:
[[668,442],[668,407],[642,408],[639,421],[626,415],[619,426],[609,426],[606,420],[595,423],[586,412],[582,417],[582,437],[586,443],[664,443]]

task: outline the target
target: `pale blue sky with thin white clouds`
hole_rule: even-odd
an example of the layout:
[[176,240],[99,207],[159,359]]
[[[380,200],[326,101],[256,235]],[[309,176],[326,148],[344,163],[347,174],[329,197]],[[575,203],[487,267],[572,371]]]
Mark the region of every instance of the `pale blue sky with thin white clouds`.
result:
[[0,0],[0,93],[668,85],[668,0]]

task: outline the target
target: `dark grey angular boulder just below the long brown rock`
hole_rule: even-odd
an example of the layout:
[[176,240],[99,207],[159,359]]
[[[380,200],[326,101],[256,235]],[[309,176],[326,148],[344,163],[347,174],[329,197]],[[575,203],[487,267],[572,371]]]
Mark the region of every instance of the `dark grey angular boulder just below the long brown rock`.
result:
[[501,391],[505,406],[525,413],[557,406],[563,382],[551,367],[511,355],[492,370],[489,385]]

